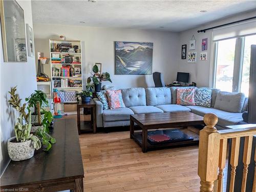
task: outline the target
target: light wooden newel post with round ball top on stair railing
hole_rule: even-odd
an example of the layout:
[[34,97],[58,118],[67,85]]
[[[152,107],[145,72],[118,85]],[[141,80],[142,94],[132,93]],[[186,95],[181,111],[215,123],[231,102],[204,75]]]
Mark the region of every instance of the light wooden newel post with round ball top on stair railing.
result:
[[201,192],[214,191],[214,181],[218,179],[220,134],[215,125],[218,117],[214,113],[204,116],[206,126],[200,131],[198,175],[201,179]]

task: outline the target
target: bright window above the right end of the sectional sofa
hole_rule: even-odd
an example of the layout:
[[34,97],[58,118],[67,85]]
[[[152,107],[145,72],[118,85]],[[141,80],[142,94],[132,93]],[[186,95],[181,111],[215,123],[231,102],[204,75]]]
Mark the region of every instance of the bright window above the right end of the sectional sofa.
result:
[[214,42],[215,88],[248,96],[251,45],[256,45],[256,35]]

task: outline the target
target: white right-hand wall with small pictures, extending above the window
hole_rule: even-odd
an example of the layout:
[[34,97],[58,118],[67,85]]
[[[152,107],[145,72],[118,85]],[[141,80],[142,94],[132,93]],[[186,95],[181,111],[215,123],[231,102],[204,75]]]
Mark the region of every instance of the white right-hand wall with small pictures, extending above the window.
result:
[[[187,53],[189,51],[196,51],[197,52],[197,62],[196,63],[188,63],[187,58],[181,59],[181,51],[179,53],[179,66],[178,70],[180,72],[188,72],[190,73],[190,82],[194,81],[197,83],[197,86],[206,86],[209,87],[209,76],[210,76],[210,61],[211,61],[211,51],[212,51],[212,30],[208,30],[205,33],[198,33],[197,31],[200,29],[206,29],[222,24],[226,24],[229,22],[235,22],[236,20],[252,17],[256,15],[256,11],[246,12],[242,14],[238,14],[235,16],[227,17],[217,22],[213,22],[201,27],[197,27],[195,29],[190,29],[187,31],[183,31],[180,33],[180,49],[181,45],[187,45]],[[197,43],[196,43],[196,50],[189,50],[189,40],[192,36],[195,36]],[[207,49],[207,61],[200,61],[200,53],[202,52],[201,43],[203,38],[208,38],[208,49]]]

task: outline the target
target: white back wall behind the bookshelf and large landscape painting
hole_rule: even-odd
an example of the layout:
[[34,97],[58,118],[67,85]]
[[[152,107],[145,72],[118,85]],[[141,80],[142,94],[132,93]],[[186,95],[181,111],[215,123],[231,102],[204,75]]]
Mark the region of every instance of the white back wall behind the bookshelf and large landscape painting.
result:
[[[164,73],[165,83],[176,79],[177,55],[180,51],[177,47],[178,33],[34,23],[35,53],[44,52],[44,56],[49,58],[49,38],[58,39],[59,35],[65,35],[67,40],[82,41],[82,54],[85,57],[82,69],[83,82],[86,82],[94,63],[101,62],[102,71],[110,73],[112,85],[117,88],[154,86],[152,75],[114,75],[114,41],[153,42],[153,72]],[[45,65],[44,72],[50,75],[50,66]]]

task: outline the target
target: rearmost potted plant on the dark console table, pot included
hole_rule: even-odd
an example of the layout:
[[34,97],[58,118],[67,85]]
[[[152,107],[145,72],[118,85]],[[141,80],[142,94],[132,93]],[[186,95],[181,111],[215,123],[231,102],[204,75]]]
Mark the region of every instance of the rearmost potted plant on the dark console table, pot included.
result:
[[44,119],[44,115],[45,115],[45,110],[41,108],[41,106],[43,104],[48,106],[48,100],[47,100],[47,96],[44,92],[42,91],[37,91],[35,90],[34,93],[32,93],[28,98],[25,99],[28,103],[28,110],[30,111],[31,108],[34,108],[34,112],[31,114],[31,121],[36,123],[38,122],[37,119],[37,102],[40,102],[40,114],[41,114],[41,118]]

